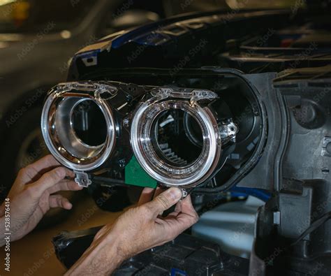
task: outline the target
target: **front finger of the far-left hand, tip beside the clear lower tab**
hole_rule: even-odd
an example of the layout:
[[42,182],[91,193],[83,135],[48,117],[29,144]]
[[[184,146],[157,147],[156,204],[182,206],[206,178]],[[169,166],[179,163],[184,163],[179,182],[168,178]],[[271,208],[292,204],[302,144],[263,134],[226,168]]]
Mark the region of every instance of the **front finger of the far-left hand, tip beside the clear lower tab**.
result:
[[41,196],[44,191],[50,189],[66,177],[66,169],[59,167],[44,173],[43,176],[31,184],[31,188],[36,190],[36,196]]

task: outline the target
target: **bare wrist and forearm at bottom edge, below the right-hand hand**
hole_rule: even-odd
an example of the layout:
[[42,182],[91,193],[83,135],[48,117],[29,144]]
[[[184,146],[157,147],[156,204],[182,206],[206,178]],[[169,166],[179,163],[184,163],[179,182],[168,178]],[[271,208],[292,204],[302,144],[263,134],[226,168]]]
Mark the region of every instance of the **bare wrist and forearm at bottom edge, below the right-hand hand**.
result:
[[124,261],[117,251],[115,239],[112,244],[110,247],[102,241],[93,242],[65,275],[111,275]]

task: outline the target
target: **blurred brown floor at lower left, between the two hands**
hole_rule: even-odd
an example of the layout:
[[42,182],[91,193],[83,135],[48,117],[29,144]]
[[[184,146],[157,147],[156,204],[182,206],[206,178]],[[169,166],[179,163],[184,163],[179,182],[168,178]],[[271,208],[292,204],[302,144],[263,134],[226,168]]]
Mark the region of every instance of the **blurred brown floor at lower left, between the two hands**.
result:
[[11,243],[10,273],[3,270],[5,252],[1,248],[0,275],[63,275],[66,268],[61,265],[54,254],[52,237],[64,230],[73,231],[112,223],[119,215],[121,212],[100,210],[87,194],[80,193],[79,200],[74,204],[66,219],[53,226],[36,229],[22,240]]

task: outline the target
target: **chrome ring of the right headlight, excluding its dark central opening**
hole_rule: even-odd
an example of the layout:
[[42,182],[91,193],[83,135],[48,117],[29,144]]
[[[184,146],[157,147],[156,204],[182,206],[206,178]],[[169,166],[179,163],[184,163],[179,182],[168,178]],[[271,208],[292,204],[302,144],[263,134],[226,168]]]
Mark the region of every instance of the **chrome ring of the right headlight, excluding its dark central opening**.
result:
[[[161,159],[151,141],[151,129],[154,120],[164,110],[181,109],[189,113],[203,132],[203,150],[191,164],[173,166]],[[193,187],[205,180],[215,170],[221,157],[221,138],[217,121],[207,107],[182,96],[154,96],[140,103],[131,124],[131,147],[142,168],[156,181],[168,187]]]

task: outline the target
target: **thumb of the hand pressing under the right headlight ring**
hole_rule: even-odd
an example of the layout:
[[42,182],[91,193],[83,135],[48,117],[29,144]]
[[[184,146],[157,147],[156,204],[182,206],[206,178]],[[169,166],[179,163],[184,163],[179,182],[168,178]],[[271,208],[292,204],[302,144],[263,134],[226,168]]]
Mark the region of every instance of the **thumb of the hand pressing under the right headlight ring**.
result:
[[175,205],[180,198],[182,198],[182,191],[178,188],[170,188],[162,194],[159,194],[159,196],[156,196],[156,198],[147,203],[147,205],[150,210],[153,210],[154,216],[157,217],[161,212]]

